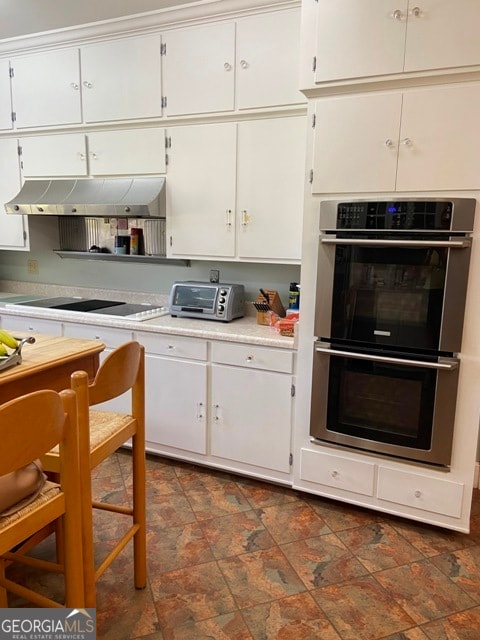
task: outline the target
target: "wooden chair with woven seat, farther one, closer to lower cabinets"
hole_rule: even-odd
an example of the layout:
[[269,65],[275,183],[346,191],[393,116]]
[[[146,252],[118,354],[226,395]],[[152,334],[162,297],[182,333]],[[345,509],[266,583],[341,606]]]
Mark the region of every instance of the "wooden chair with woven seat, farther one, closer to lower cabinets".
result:
[[[138,342],[127,342],[112,351],[102,362],[95,379],[89,383],[84,371],[71,377],[71,388],[77,395],[82,487],[91,496],[91,470],[131,440],[133,502],[132,507],[91,501],[83,503],[83,562],[85,600],[95,607],[95,583],[113,560],[133,538],[134,584],[143,589],[147,581],[146,559],[146,498],[145,498],[145,352]],[[92,410],[91,406],[112,400],[125,392],[131,394],[131,411]],[[48,455],[46,465],[55,471],[57,451]],[[88,464],[89,460],[89,464]],[[94,508],[128,515],[132,518],[127,532],[116,541],[107,557],[95,566],[92,539]]]

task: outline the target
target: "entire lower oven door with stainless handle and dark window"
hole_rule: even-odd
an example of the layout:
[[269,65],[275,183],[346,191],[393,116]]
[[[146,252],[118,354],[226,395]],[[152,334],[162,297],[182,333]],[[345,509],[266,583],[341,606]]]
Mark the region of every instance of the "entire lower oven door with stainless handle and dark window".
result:
[[448,466],[458,365],[456,358],[390,357],[317,342],[310,435]]

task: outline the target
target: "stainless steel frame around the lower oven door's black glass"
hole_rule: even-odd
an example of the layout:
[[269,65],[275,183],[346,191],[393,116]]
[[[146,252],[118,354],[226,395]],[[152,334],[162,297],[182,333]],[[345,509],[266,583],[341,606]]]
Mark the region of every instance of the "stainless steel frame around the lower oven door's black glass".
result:
[[[310,435],[314,438],[314,441],[319,444],[329,442],[357,450],[386,454],[395,458],[415,460],[426,464],[444,467],[450,465],[459,367],[453,370],[437,370],[437,388],[432,420],[432,446],[428,450],[417,449],[377,440],[368,440],[367,438],[358,438],[328,429],[327,407],[330,357],[336,354],[332,353],[333,350],[331,349],[326,349],[325,351],[317,350],[317,346],[315,344],[310,414]],[[351,357],[351,355],[343,357]]]

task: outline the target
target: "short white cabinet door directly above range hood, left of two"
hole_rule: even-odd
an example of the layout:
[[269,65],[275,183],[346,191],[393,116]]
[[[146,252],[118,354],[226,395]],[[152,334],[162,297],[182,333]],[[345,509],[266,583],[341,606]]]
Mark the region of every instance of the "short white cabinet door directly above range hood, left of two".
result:
[[25,137],[21,147],[25,177],[87,175],[83,133]]

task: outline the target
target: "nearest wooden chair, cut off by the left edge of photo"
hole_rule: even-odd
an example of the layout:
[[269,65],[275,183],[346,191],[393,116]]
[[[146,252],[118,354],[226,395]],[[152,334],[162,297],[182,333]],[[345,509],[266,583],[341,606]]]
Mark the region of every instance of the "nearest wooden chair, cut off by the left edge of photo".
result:
[[[35,391],[0,406],[0,475],[11,473],[59,447],[59,484],[48,482],[40,494],[19,511],[0,517],[0,607],[7,607],[7,592],[40,607],[85,607],[81,503],[75,393],[68,389]],[[45,531],[61,523],[63,564],[25,555],[23,543],[31,548]],[[16,549],[12,552],[12,549]],[[12,561],[64,573],[64,605],[6,577]]]

